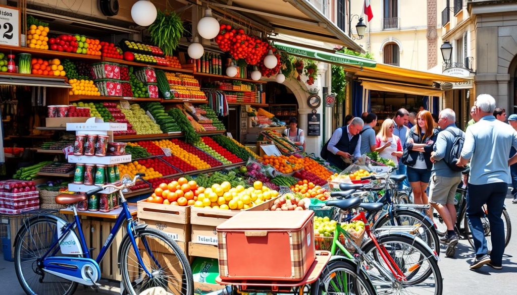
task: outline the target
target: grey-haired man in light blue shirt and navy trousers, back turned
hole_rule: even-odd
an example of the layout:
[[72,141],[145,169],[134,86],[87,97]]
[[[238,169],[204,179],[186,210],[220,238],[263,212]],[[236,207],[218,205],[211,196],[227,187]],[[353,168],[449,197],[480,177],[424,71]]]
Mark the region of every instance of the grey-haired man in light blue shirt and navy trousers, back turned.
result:
[[[505,229],[501,214],[511,183],[509,165],[517,163],[517,156],[508,160],[510,148],[517,148],[517,132],[499,120],[493,113],[495,99],[488,94],[481,94],[474,104],[476,112],[475,128],[468,128],[465,143],[458,159],[458,166],[465,166],[470,160],[470,177],[468,179],[467,216],[476,257],[470,269],[489,265],[502,269],[505,250]],[[492,239],[492,252],[488,256],[486,238],[481,217],[484,216],[483,204],[488,209],[488,220]]]

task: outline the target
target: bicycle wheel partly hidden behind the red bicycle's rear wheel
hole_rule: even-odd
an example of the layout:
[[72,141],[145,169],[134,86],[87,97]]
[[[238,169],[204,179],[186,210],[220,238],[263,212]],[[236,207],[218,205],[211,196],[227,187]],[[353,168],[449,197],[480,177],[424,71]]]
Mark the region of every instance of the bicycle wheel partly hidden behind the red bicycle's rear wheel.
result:
[[438,238],[438,234],[436,233],[436,228],[434,228],[433,224],[429,222],[429,220],[425,219],[421,214],[412,211],[412,210],[397,210],[394,211],[393,221],[391,221],[390,216],[388,214],[384,214],[379,217],[373,228],[381,228],[383,226],[414,226],[420,225],[418,231],[413,233],[415,236],[422,239],[425,243],[431,247],[432,250],[436,252],[437,255],[440,254],[440,241]]

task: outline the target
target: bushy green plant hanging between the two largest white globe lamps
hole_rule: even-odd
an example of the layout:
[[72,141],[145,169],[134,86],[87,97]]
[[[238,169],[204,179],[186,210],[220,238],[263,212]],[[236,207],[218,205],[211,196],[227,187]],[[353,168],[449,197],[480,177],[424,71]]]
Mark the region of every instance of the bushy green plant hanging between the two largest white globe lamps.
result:
[[164,54],[172,56],[185,28],[181,18],[174,11],[158,10],[155,22],[147,30],[153,43],[161,48]]

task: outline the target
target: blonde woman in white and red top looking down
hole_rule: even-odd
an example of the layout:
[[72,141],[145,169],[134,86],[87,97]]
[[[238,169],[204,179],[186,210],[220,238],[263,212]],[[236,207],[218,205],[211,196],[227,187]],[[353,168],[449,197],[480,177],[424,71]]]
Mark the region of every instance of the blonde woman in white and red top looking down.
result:
[[396,165],[402,157],[402,143],[397,135],[393,134],[395,124],[392,119],[386,119],[381,126],[381,130],[375,137],[377,148],[374,150],[379,153],[379,157],[391,159]]

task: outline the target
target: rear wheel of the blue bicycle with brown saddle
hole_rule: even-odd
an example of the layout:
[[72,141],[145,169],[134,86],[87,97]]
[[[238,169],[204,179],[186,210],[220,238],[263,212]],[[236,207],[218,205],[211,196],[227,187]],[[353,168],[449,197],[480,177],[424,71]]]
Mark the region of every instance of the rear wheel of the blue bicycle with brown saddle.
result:
[[[50,216],[37,216],[29,220],[18,231],[14,245],[14,269],[16,276],[27,295],[69,295],[75,292],[78,283],[43,272],[37,266],[37,260],[47,253],[57,240],[57,222]],[[81,257],[82,255],[65,255],[56,247],[54,256]]]

